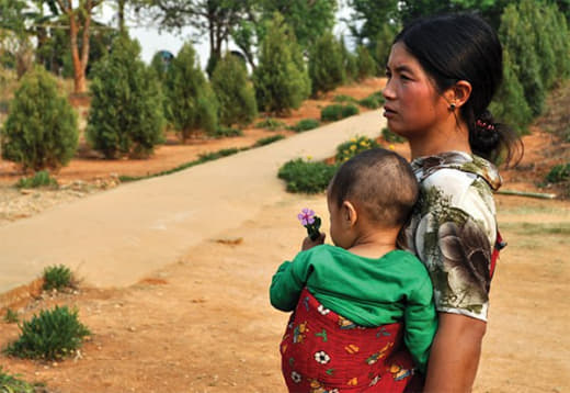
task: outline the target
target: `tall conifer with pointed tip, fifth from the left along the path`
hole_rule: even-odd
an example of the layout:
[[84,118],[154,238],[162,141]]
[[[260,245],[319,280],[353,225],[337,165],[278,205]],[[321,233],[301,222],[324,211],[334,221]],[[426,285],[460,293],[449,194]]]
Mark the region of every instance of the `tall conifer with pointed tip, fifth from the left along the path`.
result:
[[286,113],[310,93],[310,79],[295,33],[278,13],[267,26],[253,83],[258,104],[267,112]]

